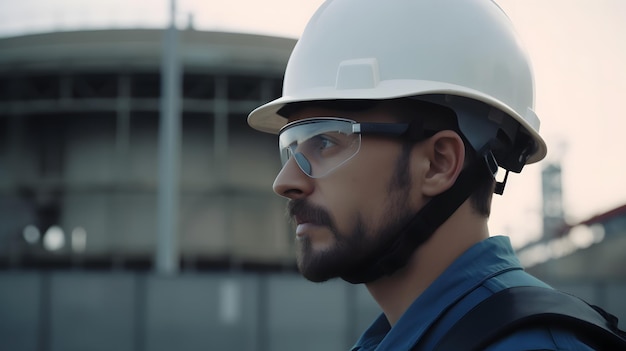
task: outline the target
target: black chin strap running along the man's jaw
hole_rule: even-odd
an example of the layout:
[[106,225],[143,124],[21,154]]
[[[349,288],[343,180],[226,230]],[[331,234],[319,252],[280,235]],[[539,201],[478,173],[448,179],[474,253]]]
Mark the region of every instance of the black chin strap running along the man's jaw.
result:
[[[341,278],[352,284],[369,283],[404,267],[415,250],[426,242],[467,200],[486,176],[495,177],[498,165],[491,151],[466,167],[452,187],[432,198],[376,257]],[[500,190],[503,190],[504,184]],[[382,252],[382,254],[380,254]]]

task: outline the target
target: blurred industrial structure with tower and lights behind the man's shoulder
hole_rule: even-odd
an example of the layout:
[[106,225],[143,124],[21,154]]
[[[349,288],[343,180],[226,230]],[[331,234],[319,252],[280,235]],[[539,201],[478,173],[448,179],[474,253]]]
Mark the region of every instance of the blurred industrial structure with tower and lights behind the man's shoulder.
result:
[[528,271],[546,281],[626,280],[626,205],[568,223],[561,166],[542,172],[543,235],[518,249]]

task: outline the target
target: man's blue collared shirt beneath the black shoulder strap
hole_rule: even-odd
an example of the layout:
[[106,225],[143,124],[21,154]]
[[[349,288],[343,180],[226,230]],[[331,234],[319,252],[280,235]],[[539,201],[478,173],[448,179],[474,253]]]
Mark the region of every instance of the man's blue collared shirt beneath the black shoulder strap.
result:
[[[352,351],[410,350],[428,327],[451,307],[423,350],[432,349],[443,334],[465,313],[494,293],[514,286],[543,286],[526,273],[508,237],[479,242],[454,261],[390,326],[381,314],[352,347]],[[592,350],[572,333],[558,328],[516,332],[491,345],[488,351]]]

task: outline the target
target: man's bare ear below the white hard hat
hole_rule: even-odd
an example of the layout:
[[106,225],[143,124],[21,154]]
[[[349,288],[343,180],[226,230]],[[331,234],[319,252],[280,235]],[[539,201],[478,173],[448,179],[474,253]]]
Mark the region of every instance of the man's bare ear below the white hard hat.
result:
[[422,192],[435,196],[448,190],[458,178],[465,162],[463,139],[451,130],[440,131],[426,140],[427,169]]

